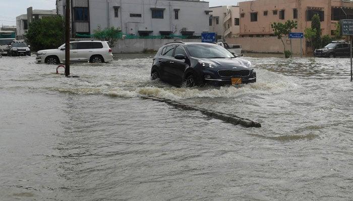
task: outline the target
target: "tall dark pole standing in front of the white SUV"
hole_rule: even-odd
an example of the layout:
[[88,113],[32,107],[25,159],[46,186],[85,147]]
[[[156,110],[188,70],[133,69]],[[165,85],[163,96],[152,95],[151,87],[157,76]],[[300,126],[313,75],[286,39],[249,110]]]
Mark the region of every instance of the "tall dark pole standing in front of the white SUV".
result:
[[66,0],[65,10],[65,76],[70,75],[70,0]]

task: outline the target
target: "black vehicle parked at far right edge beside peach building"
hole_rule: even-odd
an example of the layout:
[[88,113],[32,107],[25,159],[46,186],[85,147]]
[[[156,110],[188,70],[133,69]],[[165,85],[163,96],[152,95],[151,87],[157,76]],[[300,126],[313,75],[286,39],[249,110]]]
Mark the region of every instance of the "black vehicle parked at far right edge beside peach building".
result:
[[332,41],[323,49],[316,49],[314,55],[316,57],[346,57],[350,55],[350,44],[345,41]]

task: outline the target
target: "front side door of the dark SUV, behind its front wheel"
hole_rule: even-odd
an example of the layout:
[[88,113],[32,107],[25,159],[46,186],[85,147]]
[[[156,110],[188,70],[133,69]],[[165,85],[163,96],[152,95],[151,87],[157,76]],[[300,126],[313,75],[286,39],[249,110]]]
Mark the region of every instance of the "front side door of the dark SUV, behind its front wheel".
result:
[[181,84],[183,82],[184,72],[189,67],[189,64],[186,62],[186,59],[175,59],[174,56],[178,54],[183,54],[185,57],[187,57],[183,46],[177,46],[175,48],[173,58],[171,59],[172,69],[170,74],[173,77],[173,80],[175,80],[176,84]]

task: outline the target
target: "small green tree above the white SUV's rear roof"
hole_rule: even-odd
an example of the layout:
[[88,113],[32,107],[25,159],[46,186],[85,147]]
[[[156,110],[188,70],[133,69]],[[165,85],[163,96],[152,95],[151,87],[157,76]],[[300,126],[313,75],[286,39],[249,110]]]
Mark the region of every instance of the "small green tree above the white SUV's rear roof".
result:
[[97,29],[93,30],[93,38],[108,41],[110,47],[114,47],[117,40],[121,39],[122,36],[120,28],[107,27],[102,30],[100,25],[98,25]]

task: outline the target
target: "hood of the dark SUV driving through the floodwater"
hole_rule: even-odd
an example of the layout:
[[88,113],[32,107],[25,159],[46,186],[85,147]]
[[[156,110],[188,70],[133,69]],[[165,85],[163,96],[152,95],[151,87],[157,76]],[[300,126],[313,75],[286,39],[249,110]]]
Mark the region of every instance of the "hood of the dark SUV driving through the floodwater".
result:
[[[237,67],[237,69],[250,69],[249,67],[251,65],[250,61],[241,59],[241,58],[219,58],[219,59],[208,59],[208,58],[203,58],[200,59],[201,62],[204,63],[209,63],[215,66],[218,66],[221,69],[234,69],[234,67]],[[250,65],[249,65],[250,64]]]

